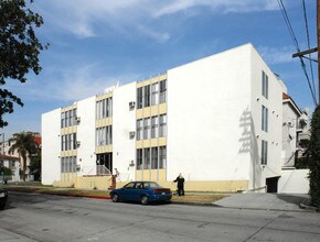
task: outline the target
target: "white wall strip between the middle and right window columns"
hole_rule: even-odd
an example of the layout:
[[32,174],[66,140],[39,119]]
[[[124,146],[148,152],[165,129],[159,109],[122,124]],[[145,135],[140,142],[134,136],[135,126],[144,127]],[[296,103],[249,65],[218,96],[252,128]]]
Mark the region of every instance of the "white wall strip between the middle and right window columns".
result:
[[129,164],[136,164],[136,136],[129,139],[129,132],[136,131],[136,109],[130,110],[129,102],[136,102],[136,82],[131,82],[116,88],[113,95],[114,169],[118,169],[122,180],[135,179],[135,166]]

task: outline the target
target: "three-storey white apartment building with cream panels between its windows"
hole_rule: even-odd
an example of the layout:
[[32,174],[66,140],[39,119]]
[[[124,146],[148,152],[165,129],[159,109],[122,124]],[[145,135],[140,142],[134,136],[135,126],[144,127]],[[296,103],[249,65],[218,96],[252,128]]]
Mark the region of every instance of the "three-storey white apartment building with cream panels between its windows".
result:
[[42,114],[42,183],[276,191],[284,82],[252,44]]

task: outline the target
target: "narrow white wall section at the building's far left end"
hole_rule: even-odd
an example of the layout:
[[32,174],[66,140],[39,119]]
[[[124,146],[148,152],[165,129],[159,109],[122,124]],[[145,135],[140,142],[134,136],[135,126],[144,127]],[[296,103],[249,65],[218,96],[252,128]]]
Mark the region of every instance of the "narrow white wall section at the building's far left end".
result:
[[42,184],[61,179],[61,109],[42,114]]

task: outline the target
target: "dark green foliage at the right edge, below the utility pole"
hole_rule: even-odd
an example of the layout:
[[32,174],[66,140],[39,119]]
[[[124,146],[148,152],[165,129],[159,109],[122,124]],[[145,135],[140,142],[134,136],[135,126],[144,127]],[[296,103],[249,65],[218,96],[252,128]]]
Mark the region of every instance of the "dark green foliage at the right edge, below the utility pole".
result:
[[311,204],[320,207],[320,106],[316,108],[311,120],[308,165]]

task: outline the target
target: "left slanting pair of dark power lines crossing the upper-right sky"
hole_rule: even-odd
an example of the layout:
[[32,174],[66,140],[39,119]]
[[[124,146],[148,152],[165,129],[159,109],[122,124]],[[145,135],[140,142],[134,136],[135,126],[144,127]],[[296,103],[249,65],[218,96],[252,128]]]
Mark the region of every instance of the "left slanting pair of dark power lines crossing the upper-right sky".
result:
[[[289,16],[288,16],[288,14],[287,14],[287,11],[286,11],[286,8],[285,8],[285,6],[284,6],[282,0],[278,0],[278,4],[279,4],[279,7],[280,7],[280,10],[281,10],[282,16],[284,16],[285,22],[286,22],[286,24],[287,24],[287,28],[288,28],[288,30],[289,30],[289,34],[290,34],[290,36],[291,36],[291,38],[292,38],[294,45],[296,46],[297,52],[300,52],[300,47],[299,47],[299,44],[298,44],[298,41],[297,41],[296,34],[295,34],[294,29],[292,29],[292,26],[291,26],[291,23],[290,23],[290,20],[289,20]],[[306,69],[306,64],[305,64],[305,62],[303,62],[303,59],[302,59],[301,56],[299,56],[299,59],[300,59],[300,64],[301,64],[301,68],[302,68],[302,70],[303,70],[303,74],[305,74],[305,76],[306,76],[306,78],[307,78],[309,89],[310,89],[310,91],[311,91],[312,100],[313,100],[313,102],[314,102],[314,106],[317,106],[317,98],[316,98],[314,91],[313,91],[313,89],[312,89],[312,87],[311,87],[311,84],[310,84],[310,79],[309,79],[309,76],[308,76],[308,72],[307,72],[307,69]]]

